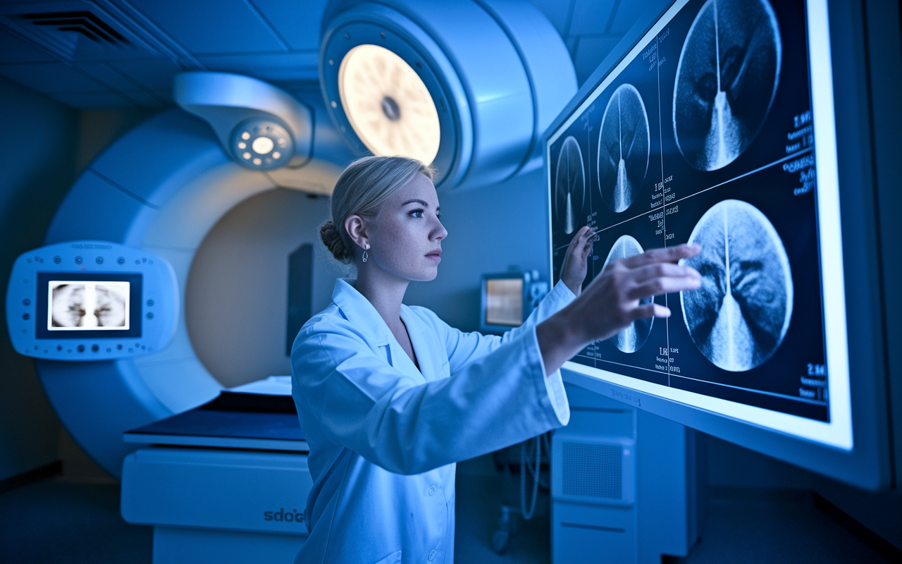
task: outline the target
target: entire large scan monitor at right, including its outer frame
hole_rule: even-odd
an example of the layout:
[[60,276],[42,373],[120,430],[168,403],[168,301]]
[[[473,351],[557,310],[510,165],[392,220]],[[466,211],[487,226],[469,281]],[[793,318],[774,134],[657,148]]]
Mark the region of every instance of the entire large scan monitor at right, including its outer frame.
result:
[[600,251],[590,280],[700,244],[683,262],[702,287],[646,300],[671,317],[589,345],[565,381],[876,489],[902,476],[884,360],[898,310],[879,290],[902,263],[875,227],[876,202],[897,199],[877,171],[898,162],[890,150],[874,164],[882,124],[851,111],[871,102],[850,86],[867,80],[850,9],[677,0],[640,20],[548,129],[550,279],[585,225]]

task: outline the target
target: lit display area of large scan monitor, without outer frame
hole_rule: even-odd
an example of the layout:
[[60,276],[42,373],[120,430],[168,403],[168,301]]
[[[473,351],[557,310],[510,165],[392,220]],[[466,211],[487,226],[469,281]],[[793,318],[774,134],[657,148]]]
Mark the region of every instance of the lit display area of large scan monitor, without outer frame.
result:
[[[553,279],[597,233],[612,260],[694,242],[695,291],[565,367],[850,449],[823,0],[678,0],[546,145]],[[649,299],[650,301],[650,299]]]

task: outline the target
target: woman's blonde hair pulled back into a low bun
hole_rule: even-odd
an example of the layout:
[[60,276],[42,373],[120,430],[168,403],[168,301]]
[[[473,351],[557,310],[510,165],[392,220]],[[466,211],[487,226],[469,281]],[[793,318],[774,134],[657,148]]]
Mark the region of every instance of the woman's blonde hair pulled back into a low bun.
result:
[[348,216],[374,217],[395,191],[417,173],[435,180],[436,171],[407,157],[364,157],[347,165],[329,199],[329,216],[319,227],[319,238],[342,263],[354,258],[354,241],[345,229]]

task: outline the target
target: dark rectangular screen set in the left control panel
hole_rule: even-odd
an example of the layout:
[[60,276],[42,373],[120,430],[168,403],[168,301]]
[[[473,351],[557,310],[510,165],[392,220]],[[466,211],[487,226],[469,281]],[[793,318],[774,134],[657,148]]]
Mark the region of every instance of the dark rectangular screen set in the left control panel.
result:
[[142,275],[38,273],[35,337],[141,337]]

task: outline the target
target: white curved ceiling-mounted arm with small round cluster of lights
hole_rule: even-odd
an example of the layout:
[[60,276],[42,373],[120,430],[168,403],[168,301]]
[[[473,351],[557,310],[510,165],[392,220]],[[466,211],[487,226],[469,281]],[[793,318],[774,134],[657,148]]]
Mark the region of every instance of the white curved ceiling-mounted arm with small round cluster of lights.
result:
[[226,154],[249,169],[297,168],[310,159],[310,109],[267,82],[229,72],[182,72],[173,79],[172,97],[213,127]]

